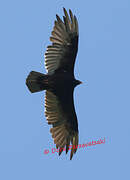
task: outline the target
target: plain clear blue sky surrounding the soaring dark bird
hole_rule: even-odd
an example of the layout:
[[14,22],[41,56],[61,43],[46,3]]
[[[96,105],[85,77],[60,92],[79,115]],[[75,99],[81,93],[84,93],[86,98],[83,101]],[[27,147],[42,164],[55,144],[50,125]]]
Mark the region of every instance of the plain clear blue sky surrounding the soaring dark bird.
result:
[[[79,143],[69,160],[55,147],[44,116],[44,92],[31,94],[31,70],[45,73],[44,53],[55,15],[70,8],[79,22],[75,89]],[[129,179],[130,1],[53,0],[0,2],[0,179]]]

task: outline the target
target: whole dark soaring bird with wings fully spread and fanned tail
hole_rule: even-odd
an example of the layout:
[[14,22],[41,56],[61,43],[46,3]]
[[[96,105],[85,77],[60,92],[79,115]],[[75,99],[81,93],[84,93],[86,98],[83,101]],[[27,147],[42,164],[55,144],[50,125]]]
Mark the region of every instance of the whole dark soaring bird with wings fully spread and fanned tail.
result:
[[[74,64],[78,51],[78,22],[65,8],[63,21],[56,15],[50,41],[45,53],[47,74],[31,71],[26,85],[31,93],[46,90],[45,116],[52,125],[50,132],[59,149],[59,155],[70,146],[72,159],[78,147],[78,122],[73,101],[74,88],[82,82],[74,77]],[[70,143],[72,145],[70,145]]]

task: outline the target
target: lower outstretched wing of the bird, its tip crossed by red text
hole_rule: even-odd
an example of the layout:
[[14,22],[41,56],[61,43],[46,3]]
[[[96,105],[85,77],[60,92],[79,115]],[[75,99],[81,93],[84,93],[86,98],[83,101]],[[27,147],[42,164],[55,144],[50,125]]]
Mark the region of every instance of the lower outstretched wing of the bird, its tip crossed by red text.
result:
[[59,148],[59,155],[72,143],[70,159],[78,146],[78,123],[73,102],[73,92],[67,94],[68,98],[58,97],[50,91],[45,95],[45,116],[48,124],[52,125],[50,132],[56,147]]

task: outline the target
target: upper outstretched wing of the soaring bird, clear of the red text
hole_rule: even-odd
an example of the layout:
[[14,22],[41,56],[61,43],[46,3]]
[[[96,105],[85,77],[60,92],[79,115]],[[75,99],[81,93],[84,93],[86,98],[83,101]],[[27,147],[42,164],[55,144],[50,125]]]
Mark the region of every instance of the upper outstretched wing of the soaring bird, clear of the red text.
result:
[[53,27],[50,41],[45,53],[45,67],[48,73],[54,71],[67,71],[74,73],[74,63],[78,50],[78,22],[71,10],[69,15],[63,8],[64,21],[56,15],[57,20]]

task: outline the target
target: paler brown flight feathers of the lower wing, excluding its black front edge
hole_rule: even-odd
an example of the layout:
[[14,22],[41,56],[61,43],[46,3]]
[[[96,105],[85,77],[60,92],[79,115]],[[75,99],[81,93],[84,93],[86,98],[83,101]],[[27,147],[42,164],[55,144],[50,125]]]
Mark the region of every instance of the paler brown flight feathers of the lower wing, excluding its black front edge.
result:
[[71,129],[71,119],[63,112],[60,102],[52,92],[46,91],[45,94],[45,116],[48,124],[53,127],[50,129],[54,143],[59,148],[59,155],[62,153],[63,148],[66,147],[68,152],[69,145],[72,143],[70,159],[77,150],[78,146],[78,132]]

